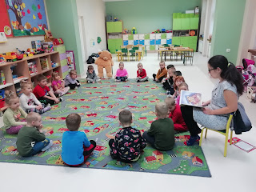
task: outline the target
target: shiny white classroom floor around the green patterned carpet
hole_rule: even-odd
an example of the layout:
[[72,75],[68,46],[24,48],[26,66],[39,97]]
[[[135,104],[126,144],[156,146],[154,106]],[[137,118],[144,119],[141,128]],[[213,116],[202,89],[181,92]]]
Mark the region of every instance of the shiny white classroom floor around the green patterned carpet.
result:
[[[114,57],[114,74],[118,62]],[[216,81],[211,79],[207,71],[209,58],[202,54],[194,54],[194,65],[183,66],[182,62],[166,62],[174,64],[176,70],[181,70],[190,90],[202,92],[204,100],[210,99],[211,90]],[[147,54],[142,61],[150,78],[157,73],[157,54]],[[130,78],[136,78],[138,62],[124,62]],[[87,64],[85,65],[87,68]],[[97,68],[97,67],[94,67]],[[96,73],[97,73],[97,69]],[[256,104],[246,100],[242,95],[240,102],[246,107],[246,112],[253,125],[256,125]],[[2,126],[2,118],[0,118]],[[202,150],[210,167],[212,178],[199,178],[170,174],[136,173],[118,170],[94,170],[58,166],[35,166],[14,163],[0,163],[1,191],[255,191],[254,174],[256,172],[256,150],[246,153],[236,146],[228,146],[227,157],[223,157],[224,137],[208,132],[202,141]],[[253,127],[248,133],[235,135],[253,146],[256,146],[256,130]],[[152,184],[149,184],[152,182]],[[26,189],[26,190],[25,190]]]

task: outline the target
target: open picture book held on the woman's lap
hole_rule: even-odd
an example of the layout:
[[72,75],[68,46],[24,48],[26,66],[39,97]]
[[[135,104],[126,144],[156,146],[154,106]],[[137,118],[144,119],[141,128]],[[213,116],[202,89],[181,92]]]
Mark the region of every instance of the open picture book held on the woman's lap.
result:
[[202,94],[188,90],[182,90],[179,105],[202,107]]

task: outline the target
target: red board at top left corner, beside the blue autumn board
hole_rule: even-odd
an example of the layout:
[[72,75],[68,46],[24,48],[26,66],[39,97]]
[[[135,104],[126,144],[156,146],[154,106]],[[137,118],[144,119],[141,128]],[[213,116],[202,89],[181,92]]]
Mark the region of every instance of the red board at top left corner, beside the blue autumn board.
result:
[[7,38],[13,37],[5,0],[0,0],[0,18],[0,32],[4,32]]

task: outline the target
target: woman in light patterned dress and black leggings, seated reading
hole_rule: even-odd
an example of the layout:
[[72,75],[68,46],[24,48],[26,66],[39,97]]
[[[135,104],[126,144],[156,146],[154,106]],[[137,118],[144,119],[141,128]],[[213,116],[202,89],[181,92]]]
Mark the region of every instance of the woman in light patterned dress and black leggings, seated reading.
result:
[[201,129],[198,124],[213,130],[226,130],[226,123],[230,113],[238,109],[238,98],[243,92],[242,74],[234,64],[222,55],[215,55],[208,62],[211,78],[218,78],[219,82],[212,91],[210,101],[202,102],[203,108],[182,106],[182,116],[190,131],[190,139],[184,142],[192,146],[198,142]]

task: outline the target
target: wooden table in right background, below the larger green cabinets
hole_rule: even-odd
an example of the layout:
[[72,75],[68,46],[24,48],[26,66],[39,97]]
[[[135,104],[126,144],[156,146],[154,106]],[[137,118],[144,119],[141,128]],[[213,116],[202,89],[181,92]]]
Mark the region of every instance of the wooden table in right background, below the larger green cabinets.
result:
[[[186,65],[186,58],[190,58],[190,64],[193,64],[193,58],[194,58],[194,50],[193,49],[174,49],[174,50],[158,50],[158,53],[160,54],[161,57],[161,61],[162,61],[162,55],[166,53],[174,53],[176,54],[176,61],[177,61],[177,56],[178,53],[182,54],[183,57],[183,64]],[[165,57],[165,61],[166,61],[166,57]]]

